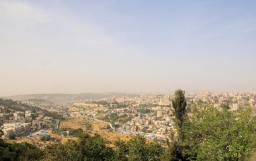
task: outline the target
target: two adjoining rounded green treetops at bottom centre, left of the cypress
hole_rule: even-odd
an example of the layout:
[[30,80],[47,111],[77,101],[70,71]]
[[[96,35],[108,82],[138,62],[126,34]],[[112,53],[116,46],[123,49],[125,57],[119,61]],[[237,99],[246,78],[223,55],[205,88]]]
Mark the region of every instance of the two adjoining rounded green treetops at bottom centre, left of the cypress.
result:
[[42,160],[161,160],[161,144],[146,143],[145,138],[135,136],[128,142],[117,140],[114,148],[98,134],[85,133],[77,141],[46,148]]

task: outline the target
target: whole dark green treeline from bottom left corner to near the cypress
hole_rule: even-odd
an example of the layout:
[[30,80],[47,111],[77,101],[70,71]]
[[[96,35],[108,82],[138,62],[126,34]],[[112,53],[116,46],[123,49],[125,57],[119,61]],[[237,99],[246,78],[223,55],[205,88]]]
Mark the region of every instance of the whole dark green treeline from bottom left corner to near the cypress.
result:
[[161,160],[164,152],[161,144],[146,143],[142,136],[135,136],[128,142],[116,140],[113,148],[97,133],[94,136],[81,133],[77,140],[47,146],[44,150],[28,143],[0,146],[0,160]]

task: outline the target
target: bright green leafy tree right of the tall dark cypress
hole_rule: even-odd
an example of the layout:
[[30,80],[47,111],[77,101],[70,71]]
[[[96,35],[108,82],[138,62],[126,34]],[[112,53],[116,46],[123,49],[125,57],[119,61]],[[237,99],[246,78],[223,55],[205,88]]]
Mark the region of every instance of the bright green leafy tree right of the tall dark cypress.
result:
[[214,107],[194,110],[185,122],[183,152],[190,160],[246,160],[256,145],[255,125],[250,109],[237,114]]

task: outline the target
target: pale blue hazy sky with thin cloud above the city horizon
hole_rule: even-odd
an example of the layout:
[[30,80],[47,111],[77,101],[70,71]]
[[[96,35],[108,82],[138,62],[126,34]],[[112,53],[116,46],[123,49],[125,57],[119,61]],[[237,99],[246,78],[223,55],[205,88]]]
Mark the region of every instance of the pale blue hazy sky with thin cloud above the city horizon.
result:
[[256,1],[0,1],[0,96],[249,91]]

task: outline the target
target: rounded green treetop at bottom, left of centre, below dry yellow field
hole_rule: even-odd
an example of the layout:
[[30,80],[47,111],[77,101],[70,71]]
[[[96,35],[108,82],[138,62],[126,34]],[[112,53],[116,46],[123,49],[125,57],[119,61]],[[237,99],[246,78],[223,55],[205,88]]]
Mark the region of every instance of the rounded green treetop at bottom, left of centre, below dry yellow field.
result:
[[110,160],[114,150],[97,133],[90,136],[83,133],[79,140],[46,148],[43,160]]

